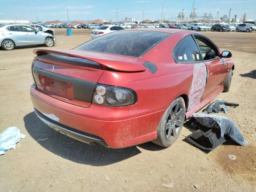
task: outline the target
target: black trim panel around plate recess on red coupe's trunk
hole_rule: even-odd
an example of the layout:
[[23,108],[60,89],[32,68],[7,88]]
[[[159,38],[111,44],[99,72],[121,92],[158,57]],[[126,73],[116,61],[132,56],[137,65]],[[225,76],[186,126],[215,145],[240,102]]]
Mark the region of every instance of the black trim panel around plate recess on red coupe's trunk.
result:
[[71,83],[74,88],[74,99],[92,103],[92,95],[94,92],[94,88],[96,86],[96,82],[86,81],[82,79],[77,79],[73,77],[68,77],[68,76],[48,72],[36,67],[32,68],[32,73],[36,81],[36,84],[39,84],[39,85],[41,85],[41,83],[38,78],[38,74],[42,74],[50,78]]

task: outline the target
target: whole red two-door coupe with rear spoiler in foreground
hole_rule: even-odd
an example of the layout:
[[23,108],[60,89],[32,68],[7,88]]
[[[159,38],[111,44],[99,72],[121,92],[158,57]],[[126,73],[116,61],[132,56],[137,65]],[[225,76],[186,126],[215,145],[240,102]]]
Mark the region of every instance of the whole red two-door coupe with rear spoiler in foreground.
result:
[[37,116],[60,133],[110,148],[168,147],[184,120],[230,88],[234,63],[188,30],[122,30],[71,50],[34,50]]

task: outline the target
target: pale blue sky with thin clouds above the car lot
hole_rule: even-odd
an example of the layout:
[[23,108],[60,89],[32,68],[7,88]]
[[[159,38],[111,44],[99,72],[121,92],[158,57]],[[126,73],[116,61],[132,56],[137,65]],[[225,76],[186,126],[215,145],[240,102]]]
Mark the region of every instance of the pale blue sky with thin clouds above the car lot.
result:
[[[158,20],[176,18],[182,8],[185,18],[192,10],[193,0],[0,0],[0,20],[67,21],[69,20],[124,20],[134,17],[136,20]],[[197,16],[211,13],[215,18],[228,16],[230,19],[242,18],[246,12],[247,19],[256,20],[256,0],[195,0]],[[116,11],[117,10],[117,11]],[[117,13],[116,13],[117,12]]]

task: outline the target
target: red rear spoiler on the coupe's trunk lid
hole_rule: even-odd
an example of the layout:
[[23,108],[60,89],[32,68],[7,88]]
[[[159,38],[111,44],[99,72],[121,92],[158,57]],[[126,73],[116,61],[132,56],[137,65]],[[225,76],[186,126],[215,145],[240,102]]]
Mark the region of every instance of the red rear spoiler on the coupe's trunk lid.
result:
[[128,56],[119,56],[114,54],[81,51],[81,50],[47,50],[47,49],[35,49],[34,54],[42,56],[46,54],[59,54],[70,57],[82,58],[96,62],[102,66],[102,68],[109,68],[122,72],[142,72],[146,68],[143,66],[143,62],[139,62],[139,58],[133,58]]

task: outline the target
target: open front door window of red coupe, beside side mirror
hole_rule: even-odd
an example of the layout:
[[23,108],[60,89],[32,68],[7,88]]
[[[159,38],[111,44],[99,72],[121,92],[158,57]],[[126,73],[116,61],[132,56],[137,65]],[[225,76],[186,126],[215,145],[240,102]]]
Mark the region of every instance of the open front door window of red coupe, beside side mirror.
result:
[[202,36],[195,36],[196,43],[198,44],[202,57],[205,60],[212,60],[218,56],[218,50],[216,47],[207,39]]

